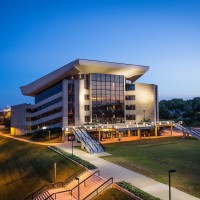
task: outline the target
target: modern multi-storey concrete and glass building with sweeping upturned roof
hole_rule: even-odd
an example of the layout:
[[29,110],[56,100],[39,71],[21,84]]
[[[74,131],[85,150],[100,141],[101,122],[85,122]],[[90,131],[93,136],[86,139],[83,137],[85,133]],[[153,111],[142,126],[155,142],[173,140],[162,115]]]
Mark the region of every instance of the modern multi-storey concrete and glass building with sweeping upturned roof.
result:
[[138,83],[148,66],[75,60],[22,86],[35,104],[12,106],[11,133],[89,123],[158,121],[158,87]]

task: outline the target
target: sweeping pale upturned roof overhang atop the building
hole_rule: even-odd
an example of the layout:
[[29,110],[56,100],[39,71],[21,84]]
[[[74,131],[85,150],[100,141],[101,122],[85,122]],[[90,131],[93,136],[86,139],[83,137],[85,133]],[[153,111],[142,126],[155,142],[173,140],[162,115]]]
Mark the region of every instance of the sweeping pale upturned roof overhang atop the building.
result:
[[67,76],[91,73],[124,75],[134,82],[148,71],[148,69],[148,66],[78,59],[26,86],[20,87],[20,89],[24,95],[35,96],[39,92],[65,79]]

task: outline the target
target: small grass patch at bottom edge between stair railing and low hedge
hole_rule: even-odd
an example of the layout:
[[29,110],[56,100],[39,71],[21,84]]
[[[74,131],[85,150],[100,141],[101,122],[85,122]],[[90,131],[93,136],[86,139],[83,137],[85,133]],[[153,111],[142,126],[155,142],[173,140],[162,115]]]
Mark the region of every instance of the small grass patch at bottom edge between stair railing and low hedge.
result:
[[125,193],[114,189],[109,188],[99,194],[94,200],[132,200],[132,198]]

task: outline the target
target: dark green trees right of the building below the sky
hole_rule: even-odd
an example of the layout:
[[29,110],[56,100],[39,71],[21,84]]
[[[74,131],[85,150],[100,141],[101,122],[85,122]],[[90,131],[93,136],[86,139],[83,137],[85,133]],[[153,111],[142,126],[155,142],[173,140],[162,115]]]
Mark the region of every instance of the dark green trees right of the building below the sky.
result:
[[185,125],[200,124],[200,97],[162,100],[159,109],[160,120],[183,121]]

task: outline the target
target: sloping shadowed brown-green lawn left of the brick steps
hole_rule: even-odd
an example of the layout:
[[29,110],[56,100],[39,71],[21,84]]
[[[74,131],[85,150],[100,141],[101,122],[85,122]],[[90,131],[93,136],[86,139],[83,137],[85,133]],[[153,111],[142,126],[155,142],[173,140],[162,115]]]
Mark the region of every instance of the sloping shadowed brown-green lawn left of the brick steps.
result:
[[63,181],[80,167],[39,146],[0,136],[0,200],[24,199],[33,191],[54,181]]

